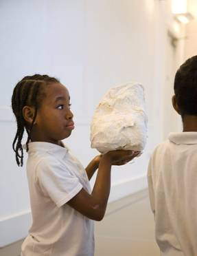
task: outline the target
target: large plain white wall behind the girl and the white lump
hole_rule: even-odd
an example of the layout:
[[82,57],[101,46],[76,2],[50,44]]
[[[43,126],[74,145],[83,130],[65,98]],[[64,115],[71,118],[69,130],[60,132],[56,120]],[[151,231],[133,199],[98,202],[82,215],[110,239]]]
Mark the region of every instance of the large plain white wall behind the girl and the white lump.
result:
[[163,138],[168,28],[163,17],[170,12],[163,2],[1,0],[0,246],[26,235],[30,225],[25,168],[16,167],[12,152],[16,125],[10,111],[12,89],[27,74],[57,76],[69,88],[76,130],[65,142],[84,165],[97,154],[90,149],[89,123],[102,95],[120,83],[141,82],[148,145],[134,164],[113,168],[111,201],[146,187],[148,158]]

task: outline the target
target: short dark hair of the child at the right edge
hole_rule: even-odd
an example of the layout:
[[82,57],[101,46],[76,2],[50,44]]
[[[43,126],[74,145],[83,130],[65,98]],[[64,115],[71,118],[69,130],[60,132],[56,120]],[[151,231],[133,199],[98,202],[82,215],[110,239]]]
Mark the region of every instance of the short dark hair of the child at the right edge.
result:
[[176,72],[174,94],[181,116],[197,116],[197,56],[187,59]]

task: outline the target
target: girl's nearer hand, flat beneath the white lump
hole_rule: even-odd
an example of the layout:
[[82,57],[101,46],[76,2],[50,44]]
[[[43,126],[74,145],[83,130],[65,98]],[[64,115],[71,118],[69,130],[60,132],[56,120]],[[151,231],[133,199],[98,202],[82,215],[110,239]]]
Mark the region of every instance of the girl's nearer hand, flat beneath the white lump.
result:
[[121,165],[131,161],[133,158],[139,155],[139,153],[140,151],[115,150],[105,153],[102,158],[108,158],[112,165]]

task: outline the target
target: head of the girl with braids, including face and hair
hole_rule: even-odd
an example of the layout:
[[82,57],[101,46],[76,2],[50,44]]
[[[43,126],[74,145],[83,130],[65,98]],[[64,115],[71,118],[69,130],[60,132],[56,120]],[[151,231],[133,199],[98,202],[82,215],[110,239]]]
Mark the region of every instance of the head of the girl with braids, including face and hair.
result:
[[28,135],[27,150],[30,140],[59,144],[60,140],[70,136],[74,127],[69,100],[67,88],[58,79],[47,75],[25,76],[16,84],[12,110],[17,131],[12,147],[18,165],[23,165],[21,140],[24,130]]

